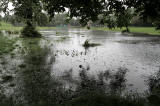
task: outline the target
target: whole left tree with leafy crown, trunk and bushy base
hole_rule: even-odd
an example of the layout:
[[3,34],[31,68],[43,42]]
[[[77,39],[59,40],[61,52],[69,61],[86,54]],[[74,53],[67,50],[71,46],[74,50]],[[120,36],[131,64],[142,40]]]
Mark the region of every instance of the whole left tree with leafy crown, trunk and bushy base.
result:
[[27,37],[39,37],[40,33],[36,31],[36,18],[42,12],[42,5],[39,0],[16,0],[12,1],[15,15],[25,22],[26,26],[22,30],[22,35]]

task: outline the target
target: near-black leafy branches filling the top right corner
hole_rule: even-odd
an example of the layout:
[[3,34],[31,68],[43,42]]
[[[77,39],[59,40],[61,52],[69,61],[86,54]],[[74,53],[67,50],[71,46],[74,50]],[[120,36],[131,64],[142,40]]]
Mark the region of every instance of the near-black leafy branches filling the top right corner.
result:
[[134,7],[144,21],[149,19],[160,29],[160,0],[125,0],[125,4]]

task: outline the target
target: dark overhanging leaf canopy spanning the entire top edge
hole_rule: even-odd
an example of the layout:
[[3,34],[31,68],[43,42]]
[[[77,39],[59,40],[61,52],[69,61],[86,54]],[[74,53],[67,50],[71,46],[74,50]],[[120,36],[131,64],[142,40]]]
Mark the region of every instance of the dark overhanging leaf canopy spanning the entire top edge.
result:
[[96,21],[99,14],[114,14],[118,26],[122,27],[128,25],[131,19],[128,9],[134,8],[141,17],[151,19],[155,25],[160,26],[159,0],[1,0],[0,10],[7,11],[9,2],[13,3],[13,11],[18,19],[32,24],[42,13],[52,18],[55,13],[68,10],[68,17],[78,17],[84,25],[89,20]]

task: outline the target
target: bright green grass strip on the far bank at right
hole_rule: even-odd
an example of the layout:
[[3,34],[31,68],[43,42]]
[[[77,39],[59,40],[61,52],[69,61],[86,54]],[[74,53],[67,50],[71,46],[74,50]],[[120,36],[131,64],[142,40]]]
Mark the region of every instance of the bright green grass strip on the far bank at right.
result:
[[[121,32],[125,30],[125,28],[115,28],[109,29],[107,27],[94,27],[93,30],[103,30],[103,31],[114,31]],[[150,35],[160,35],[160,30],[155,30],[155,27],[129,27],[131,33],[142,33],[142,34],[150,34]]]

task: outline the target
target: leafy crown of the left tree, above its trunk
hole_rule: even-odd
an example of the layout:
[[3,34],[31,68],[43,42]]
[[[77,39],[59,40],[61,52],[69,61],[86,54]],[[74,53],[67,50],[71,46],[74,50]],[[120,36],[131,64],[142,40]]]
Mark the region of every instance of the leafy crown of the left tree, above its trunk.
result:
[[15,6],[15,15],[24,22],[36,21],[37,15],[42,11],[40,0],[17,0],[12,1]]

